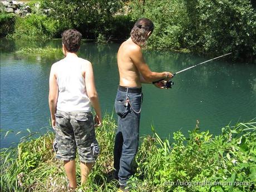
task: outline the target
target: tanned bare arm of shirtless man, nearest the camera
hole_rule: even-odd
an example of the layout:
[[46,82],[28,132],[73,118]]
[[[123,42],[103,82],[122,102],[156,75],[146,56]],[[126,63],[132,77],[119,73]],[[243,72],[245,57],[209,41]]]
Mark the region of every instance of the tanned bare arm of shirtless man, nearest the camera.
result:
[[141,48],[133,47],[130,55],[131,55],[130,57],[132,62],[135,64],[141,76],[143,77],[143,79],[141,78],[142,82],[151,83],[153,81],[159,81],[163,78],[166,78],[166,80],[169,80],[171,77],[173,77],[173,74],[167,71],[160,72],[160,73],[152,72],[149,66],[147,66],[142,56]]

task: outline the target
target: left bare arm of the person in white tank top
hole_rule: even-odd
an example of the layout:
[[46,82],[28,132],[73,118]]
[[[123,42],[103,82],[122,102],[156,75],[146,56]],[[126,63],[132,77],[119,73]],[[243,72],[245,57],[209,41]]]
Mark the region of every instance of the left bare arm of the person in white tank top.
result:
[[55,124],[56,124],[55,113],[57,110],[57,99],[58,99],[58,83],[55,75],[55,66],[53,65],[51,67],[50,78],[49,78],[49,98],[48,98],[53,129],[55,129]]

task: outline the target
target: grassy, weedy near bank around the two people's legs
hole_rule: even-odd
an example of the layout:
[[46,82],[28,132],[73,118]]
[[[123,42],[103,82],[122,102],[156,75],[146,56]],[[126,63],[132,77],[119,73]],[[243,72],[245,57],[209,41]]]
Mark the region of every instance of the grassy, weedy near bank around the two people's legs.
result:
[[[113,169],[116,123],[106,116],[96,130],[101,155],[83,191],[116,191]],[[152,129],[154,131],[154,129]],[[256,122],[222,128],[220,135],[200,132],[198,125],[174,142],[154,135],[141,138],[131,191],[253,191],[256,183]],[[53,133],[1,150],[1,191],[66,191],[61,161],[54,158]],[[77,178],[80,178],[77,167]],[[78,182],[80,180],[78,179]]]

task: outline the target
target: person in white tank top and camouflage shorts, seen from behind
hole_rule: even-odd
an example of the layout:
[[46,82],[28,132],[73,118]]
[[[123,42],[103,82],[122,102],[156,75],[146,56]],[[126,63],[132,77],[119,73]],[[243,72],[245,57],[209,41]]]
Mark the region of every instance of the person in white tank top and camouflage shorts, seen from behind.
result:
[[[65,58],[54,63],[49,79],[49,107],[56,132],[56,158],[63,160],[68,187],[76,188],[76,149],[80,156],[81,185],[85,183],[99,155],[95,126],[102,122],[92,65],[77,56],[81,33],[68,29],[62,33]],[[96,115],[91,114],[91,105]]]

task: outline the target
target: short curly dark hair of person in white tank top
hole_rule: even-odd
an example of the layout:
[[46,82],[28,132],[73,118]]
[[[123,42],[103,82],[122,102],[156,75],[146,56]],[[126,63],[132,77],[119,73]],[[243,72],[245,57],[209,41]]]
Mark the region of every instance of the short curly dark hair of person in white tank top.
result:
[[76,53],[80,48],[82,34],[76,29],[67,29],[61,34],[61,40],[66,50]]

